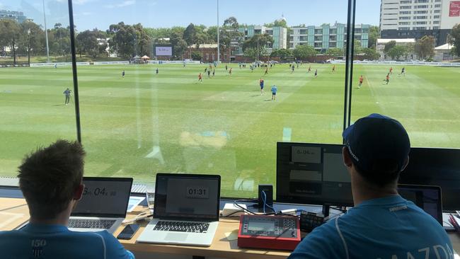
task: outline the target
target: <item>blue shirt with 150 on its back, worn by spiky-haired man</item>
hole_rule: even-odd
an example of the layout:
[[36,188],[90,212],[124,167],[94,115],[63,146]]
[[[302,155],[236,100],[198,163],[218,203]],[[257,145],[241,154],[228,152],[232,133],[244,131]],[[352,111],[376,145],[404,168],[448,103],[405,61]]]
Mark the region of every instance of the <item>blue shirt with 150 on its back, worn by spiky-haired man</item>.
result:
[[0,231],[2,259],[134,259],[108,231],[74,232],[66,226],[28,224]]

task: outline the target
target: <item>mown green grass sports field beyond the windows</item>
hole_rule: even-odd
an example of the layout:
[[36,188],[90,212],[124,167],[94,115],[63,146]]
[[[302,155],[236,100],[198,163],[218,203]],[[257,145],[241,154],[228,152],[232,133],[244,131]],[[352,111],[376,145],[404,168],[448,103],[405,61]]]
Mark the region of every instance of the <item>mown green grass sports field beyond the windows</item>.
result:
[[[263,69],[237,64],[232,76],[221,65],[201,84],[205,65],[79,67],[86,175],[151,183],[156,172],[219,173],[222,195],[254,195],[258,183],[275,184],[276,142],[342,141],[345,66],[335,74],[331,64],[311,66],[307,74],[309,64],[294,73],[276,65],[263,96]],[[460,147],[460,68],[393,69],[384,85],[389,66],[355,65],[352,120],[384,113],[406,126],[413,146]],[[62,94],[71,82],[70,67],[0,69],[0,176],[16,175],[35,146],[76,139],[74,105]]]

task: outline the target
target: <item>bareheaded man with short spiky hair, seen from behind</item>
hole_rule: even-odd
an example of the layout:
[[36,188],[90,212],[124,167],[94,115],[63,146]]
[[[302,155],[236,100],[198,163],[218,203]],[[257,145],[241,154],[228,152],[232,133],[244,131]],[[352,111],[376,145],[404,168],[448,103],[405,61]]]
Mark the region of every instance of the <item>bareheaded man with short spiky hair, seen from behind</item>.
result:
[[84,155],[79,143],[58,140],[25,157],[18,178],[30,223],[21,230],[0,231],[2,259],[134,259],[107,231],[67,229],[84,190]]

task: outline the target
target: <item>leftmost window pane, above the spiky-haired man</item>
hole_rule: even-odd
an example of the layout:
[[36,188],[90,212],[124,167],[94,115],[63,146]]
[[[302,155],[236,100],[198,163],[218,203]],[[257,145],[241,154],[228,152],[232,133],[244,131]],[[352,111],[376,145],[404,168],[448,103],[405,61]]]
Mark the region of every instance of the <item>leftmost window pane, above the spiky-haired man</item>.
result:
[[73,90],[68,13],[67,1],[1,1],[0,176],[16,176],[37,146],[76,139],[64,94]]

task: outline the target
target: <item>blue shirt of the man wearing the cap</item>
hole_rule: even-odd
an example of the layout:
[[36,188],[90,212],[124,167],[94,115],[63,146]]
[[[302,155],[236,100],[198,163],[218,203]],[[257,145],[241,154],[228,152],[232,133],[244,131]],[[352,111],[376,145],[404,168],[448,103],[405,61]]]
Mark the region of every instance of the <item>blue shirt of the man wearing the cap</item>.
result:
[[436,219],[399,195],[362,202],[304,238],[297,258],[454,258]]

